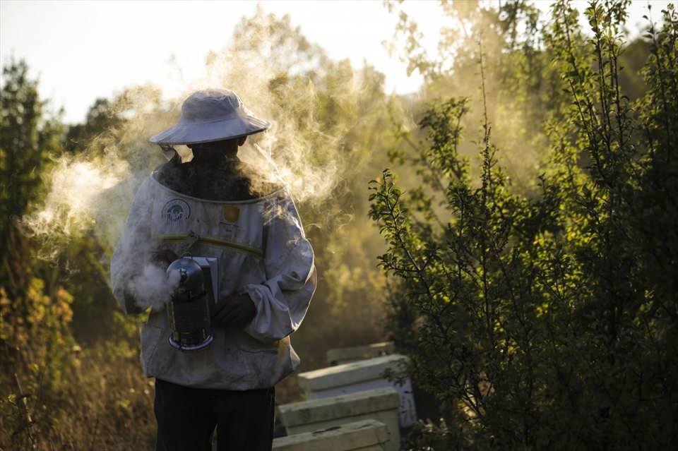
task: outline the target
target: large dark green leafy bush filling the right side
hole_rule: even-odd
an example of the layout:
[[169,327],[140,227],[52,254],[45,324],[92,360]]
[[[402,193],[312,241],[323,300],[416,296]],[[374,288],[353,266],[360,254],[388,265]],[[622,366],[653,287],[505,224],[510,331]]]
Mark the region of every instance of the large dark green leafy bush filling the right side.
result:
[[[405,193],[386,170],[371,217],[388,252],[388,327],[445,421],[418,449],[664,449],[678,366],[678,17],[650,28],[648,91],[619,85],[626,1],[566,1],[545,35],[569,104],[543,124],[539,193],[516,193],[484,114],[480,178],[460,156],[463,99],[432,104]],[[480,72],[483,71],[480,54]],[[484,92],[484,84],[483,84]],[[487,110],[485,110],[487,111]]]

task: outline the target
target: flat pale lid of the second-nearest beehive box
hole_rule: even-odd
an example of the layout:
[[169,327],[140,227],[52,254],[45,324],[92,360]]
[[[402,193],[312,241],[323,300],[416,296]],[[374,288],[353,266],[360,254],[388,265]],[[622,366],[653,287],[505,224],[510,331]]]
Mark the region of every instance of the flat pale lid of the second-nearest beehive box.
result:
[[362,414],[398,409],[400,396],[393,387],[364,390],[349,395],[295,402],[278,407],[286,427],[349,418]]

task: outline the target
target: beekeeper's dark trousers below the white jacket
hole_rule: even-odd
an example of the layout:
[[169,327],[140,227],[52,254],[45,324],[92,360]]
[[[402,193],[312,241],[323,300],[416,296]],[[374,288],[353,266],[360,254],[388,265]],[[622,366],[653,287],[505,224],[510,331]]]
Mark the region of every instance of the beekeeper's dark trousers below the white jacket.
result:
[[213,390],[155,380],[155,451],[270,451],[275,390]]

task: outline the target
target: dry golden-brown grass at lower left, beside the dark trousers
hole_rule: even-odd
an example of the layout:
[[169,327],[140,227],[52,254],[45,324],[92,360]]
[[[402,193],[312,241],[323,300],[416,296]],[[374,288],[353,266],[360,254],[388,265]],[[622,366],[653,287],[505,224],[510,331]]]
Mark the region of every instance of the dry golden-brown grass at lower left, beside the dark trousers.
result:
[[0,449],[153,449],[153,381],[141,373],[136,349],[99,344],[73,352],[69,363],[3,376]]

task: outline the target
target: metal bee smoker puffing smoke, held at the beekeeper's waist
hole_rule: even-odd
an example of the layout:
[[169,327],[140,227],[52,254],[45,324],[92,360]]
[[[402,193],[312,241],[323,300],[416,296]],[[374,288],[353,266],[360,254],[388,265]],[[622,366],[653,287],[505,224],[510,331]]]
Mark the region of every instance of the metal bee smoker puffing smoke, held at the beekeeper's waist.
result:
[[215,258],[182,257],[167,267],[167,280],[176,283],[167,303],[169,344],[181,351],[206,348],[213,340]]

